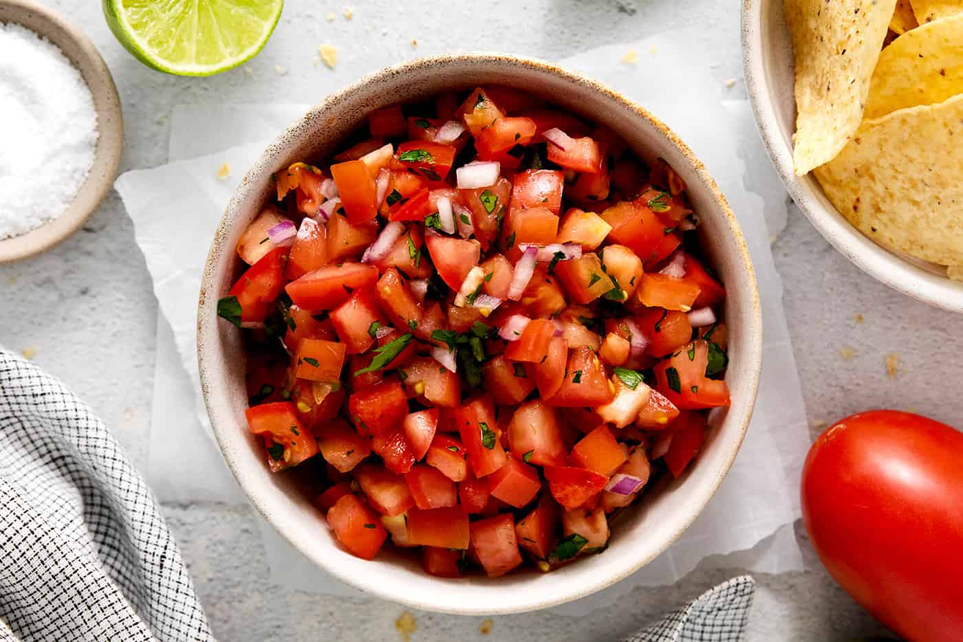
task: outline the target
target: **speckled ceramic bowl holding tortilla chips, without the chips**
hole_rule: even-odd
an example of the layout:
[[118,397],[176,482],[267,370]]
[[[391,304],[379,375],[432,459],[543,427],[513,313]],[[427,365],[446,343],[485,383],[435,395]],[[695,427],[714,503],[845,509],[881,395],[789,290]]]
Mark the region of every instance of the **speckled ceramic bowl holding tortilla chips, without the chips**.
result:
[[836,211],[812,173],[793,171],[793,42],[783,0],[743,0],[742,68],[756,123],[776,171],[807,218],[847,259],[904,295],[963,312],[963,283],[947,269],[874,243]]

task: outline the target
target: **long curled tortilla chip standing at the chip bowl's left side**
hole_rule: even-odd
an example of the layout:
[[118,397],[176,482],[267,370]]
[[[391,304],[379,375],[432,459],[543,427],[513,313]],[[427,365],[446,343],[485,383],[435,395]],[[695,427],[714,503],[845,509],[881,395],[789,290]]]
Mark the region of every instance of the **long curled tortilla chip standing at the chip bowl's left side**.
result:
[[897,0],[785,0],[795,59],[795,173],[832,160],[863,116]]

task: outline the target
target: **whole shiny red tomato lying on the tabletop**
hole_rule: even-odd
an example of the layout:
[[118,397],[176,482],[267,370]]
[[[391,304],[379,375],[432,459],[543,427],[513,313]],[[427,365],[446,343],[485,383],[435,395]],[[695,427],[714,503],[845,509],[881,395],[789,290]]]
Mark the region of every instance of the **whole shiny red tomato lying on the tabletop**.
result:
[[802,518],[829,573],[907,640],[963,640],[963,432],[873,410],[816,440]]

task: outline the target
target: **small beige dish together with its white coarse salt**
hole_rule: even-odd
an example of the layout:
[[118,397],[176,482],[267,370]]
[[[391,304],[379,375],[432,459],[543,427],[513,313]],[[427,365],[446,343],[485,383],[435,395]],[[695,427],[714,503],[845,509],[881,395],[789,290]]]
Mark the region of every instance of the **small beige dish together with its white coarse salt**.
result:
[[91,40],[36,2],[0,0],[0,263],[83,226],[122,141],[117,88]]

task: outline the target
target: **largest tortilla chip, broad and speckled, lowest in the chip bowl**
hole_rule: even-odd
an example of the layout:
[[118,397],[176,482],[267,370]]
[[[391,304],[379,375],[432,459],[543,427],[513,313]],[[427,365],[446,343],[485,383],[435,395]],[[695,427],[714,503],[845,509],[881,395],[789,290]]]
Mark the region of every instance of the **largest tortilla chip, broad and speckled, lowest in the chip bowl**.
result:
[[823,192],[873,241],[963,265],[963,95],[866,120],[815,170]]

